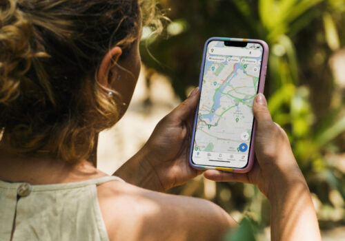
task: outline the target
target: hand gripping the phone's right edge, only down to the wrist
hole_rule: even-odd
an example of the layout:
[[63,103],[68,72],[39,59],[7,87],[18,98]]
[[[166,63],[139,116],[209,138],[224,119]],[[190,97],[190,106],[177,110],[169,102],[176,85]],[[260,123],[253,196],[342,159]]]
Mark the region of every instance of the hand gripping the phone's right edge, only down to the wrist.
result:
[[257,122],[253,168],[245,174],[208,170],[204,176],[215,181],[251,183],[270,198],[275,189],[284,185],[285,178],[304,180],[304,177],[293,156],[286,132],[272,121],[263,94],[256,96],[253,113]]

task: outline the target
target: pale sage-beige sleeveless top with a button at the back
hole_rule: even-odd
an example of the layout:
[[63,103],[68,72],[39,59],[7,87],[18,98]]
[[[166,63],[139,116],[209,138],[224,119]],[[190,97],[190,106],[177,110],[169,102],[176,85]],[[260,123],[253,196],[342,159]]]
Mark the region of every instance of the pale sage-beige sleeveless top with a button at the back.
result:
[[117,176],[53,185],[0,180],[0,240],[108,241],[97,185],[110,180],[124,181]]

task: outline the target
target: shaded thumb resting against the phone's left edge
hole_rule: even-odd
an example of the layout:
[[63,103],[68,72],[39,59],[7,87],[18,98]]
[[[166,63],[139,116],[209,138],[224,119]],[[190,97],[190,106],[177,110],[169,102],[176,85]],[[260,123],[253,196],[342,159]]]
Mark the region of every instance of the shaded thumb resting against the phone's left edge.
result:
[[197,102],[199,101],[199,95],[199,87],[196,87],[184,102],[172,110],[170,113],[172,118],[178,118],[181,121],[186,121],[190,114],[195,113]]

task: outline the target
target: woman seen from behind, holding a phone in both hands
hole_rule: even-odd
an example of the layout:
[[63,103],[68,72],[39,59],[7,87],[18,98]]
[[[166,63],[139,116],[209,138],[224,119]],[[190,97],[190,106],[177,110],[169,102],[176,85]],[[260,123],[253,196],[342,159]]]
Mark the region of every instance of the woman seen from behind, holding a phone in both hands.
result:
[[[137,0],[0,2],[1,240],[219,240],[236,226],[211,202],[157,192],[201,174],[188,165],[199,90],[115,176],[90,163],[97,135],[130,103],[141,21],[154,9]],[[320,240],[306,181],[262,94],[253,112],[255,167],[204,175],[257,185],[271,203],[273,240]]]

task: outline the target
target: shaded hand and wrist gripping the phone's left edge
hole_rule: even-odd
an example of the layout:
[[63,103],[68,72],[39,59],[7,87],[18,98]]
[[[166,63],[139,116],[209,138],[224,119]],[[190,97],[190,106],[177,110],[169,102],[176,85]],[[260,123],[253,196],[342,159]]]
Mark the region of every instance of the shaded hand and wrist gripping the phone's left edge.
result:
[[197,88],[159,121],[144,147],[114,175],[146,189],[165,191],[201,174],[188,160],[198,100]]

